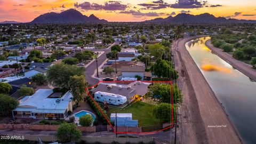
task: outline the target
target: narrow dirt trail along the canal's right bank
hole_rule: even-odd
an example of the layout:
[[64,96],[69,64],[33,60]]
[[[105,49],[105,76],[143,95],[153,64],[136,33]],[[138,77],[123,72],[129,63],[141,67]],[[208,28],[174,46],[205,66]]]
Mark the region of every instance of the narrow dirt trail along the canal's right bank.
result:
[[251,79],[253,79],[253,81],[256,82],[256,69],[253,69],[251,65],[244,63],[243,61],[239,61],[236,60],[235,58],[232,57],[232,55],[230,55],[227,52],[223,52],[221,49],[219,49],[218,47],[214,47],[211,44],[211,39],[207,40],[205,42],[205,45],[212,50],[212,52],[214,52],[215,54],[217,54],[221,59],[227,61],[231,66],[233,66],[234,68],[236,68],[237,70],[241,71],[241,73],[243,73],[244,75],[246,75],[247,77],[250,77]]

